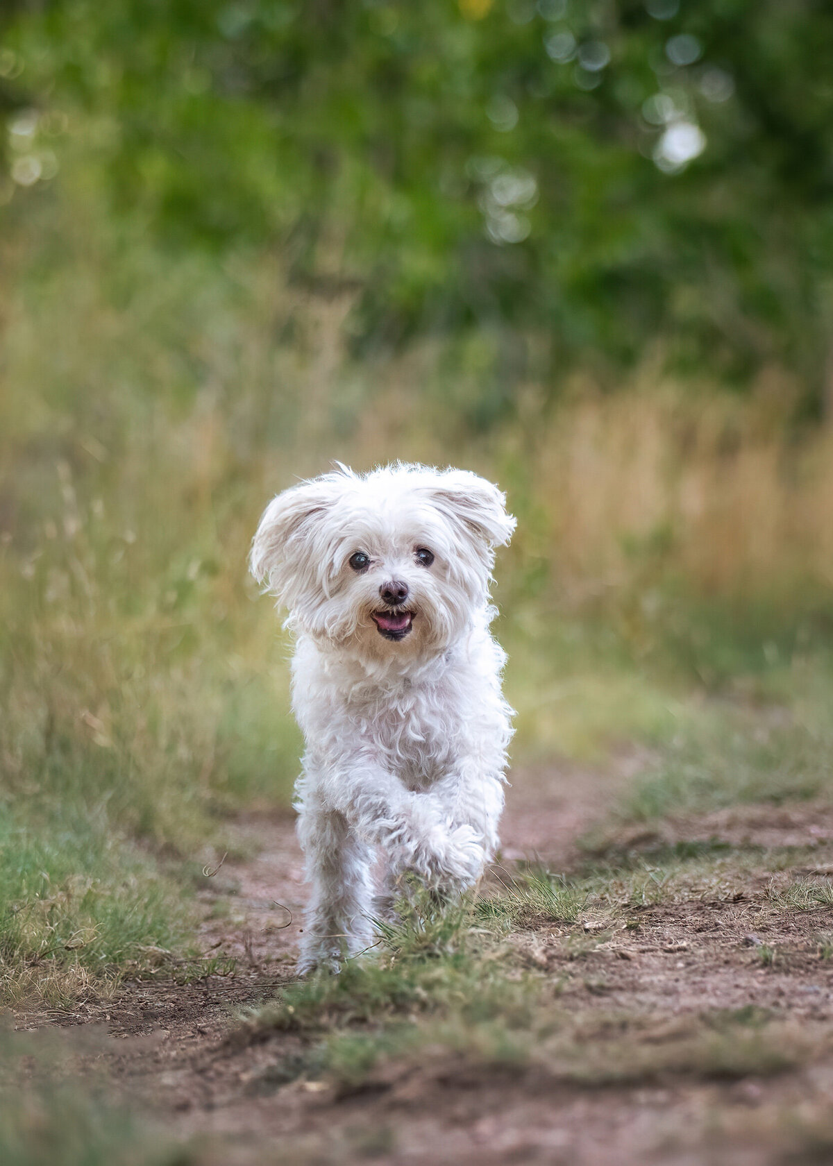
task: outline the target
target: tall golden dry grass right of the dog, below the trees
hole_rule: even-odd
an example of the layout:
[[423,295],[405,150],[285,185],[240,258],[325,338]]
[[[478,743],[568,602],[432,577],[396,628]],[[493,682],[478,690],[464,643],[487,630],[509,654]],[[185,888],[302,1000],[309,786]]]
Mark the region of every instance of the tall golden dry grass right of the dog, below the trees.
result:
[[534,493],[562,577],[615,588],[653,557],[709,595],[833,581],[833,430],[790,441],[766,412],[664,387],[559,410]]

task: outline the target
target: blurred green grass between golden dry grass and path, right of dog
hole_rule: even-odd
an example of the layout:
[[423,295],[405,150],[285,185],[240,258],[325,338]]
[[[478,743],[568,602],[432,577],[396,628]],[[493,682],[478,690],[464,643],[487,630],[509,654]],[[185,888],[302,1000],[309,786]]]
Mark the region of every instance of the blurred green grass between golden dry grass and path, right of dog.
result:
[[[546,592],[530,599],[519,580],[509,584],[497,630],[518,709],[516,754],[603,763],[611,749],[644,745],[668,771],[659,784],[688,787],[694,778],[696,808],[709,801],[698,794],[709,782],[742,801],[756,800],[766,773],[784,796],[828,781],[828,597],[797,595],[794,609],[720,596],[705,604],[654,582],[643,609],[631,583],[594,612],[547,602]],[[651,796],[643,816],[665,812],[662,789],[656,809]],[[678,799],[670,794],[668,803]]]

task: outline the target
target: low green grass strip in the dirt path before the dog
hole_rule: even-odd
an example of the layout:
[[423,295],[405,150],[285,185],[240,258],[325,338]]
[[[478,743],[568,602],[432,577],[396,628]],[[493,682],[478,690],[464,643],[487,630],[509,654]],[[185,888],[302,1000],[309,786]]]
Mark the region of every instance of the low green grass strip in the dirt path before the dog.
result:
[[[499,887],[454,909],[425,899],[402,904],[401,923],[380,927],[372,953],[337,976],[320,974],[285,989],[245,1019],[239,1035],[292,1038],[265,1070],[274,1088],[306,1076],[350,1091],[388,1062],[422,1063],[426,1056],[594,1086],[777,1073],[811,1055],[806,1033],[785,1039],[783,1025],[769,1023],[777,1018],[760,1011],[706,1011],[672,1038],[657,1038],[665,1020],[608,1018],[603,1009],[575,1016],[561,993],[567,981],[584,975],[582,961],[639,928],[635,911],[741,898],[756,919],[818,907],[828,901],[826,883],[782,879],[780,890],[760,890],[763,871],[778,877],[811,856],[812,848],[682,845],[650,862],[631,852],[620,865],[572,877],[540,868],[504,871]],[[538,955],[539,936],[547,958]],[[819,943],[824,950],[824,939]],[[765,967],[776,961],[765,946],[757,956]],[[608,990],[597,977],[584,986],[600,997]],[[810,1041],[812,1055],[822,1044]]]

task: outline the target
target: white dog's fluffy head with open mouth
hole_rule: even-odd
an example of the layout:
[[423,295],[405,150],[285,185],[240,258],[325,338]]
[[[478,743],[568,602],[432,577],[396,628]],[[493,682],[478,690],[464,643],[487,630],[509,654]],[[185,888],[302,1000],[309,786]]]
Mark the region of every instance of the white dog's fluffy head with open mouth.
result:
[[290,624],[378,659],[443,651],[489,603],[495,547],[514,519],[467,470],[346,468],[266,507],[251,570]]

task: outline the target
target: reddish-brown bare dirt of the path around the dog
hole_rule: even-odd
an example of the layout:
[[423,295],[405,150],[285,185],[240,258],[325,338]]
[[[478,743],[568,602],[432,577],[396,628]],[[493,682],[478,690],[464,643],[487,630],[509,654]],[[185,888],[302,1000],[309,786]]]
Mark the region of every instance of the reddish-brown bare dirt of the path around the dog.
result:
[[[569,868],[579,858],[578,836],[603,815],[626,777],[626,764],[618,774],[565,768],[518,775],[503,827],[506,858],[539,855]],[[617,1017],[652,1024],[652,1039],[662,1042],[664,1026],[746,1009],[783,1019],[785,1033],[792,1021],[814,1033],[812,1054],[796,1067],[768,1075],[752,1066],[740,1079],[637,1074],[628,1083],[600,1084],[534,1062],[511,1073],[477,1067],[438,1049],[418,1065],[388,1063],[345,1095],[303,1075],[281,1079],[298,1039],[292,1034],[249,1045],[228,1039],[242,1007],[293,978],[303,901],[292,821],[250,819],[237,830],[237,850],[252,857],[228,858],[201,892],[203,948],[235,955],[237,972],[189,984],[128,984],[86,1016],[65,1018],[98,1023],[94,1061],[119,1090],[140,1097],[176,1133],[215,1139],[208,1161],[833,1160],[833,962],[821,958],[819,946],[819,935],[833,929],[833,912],[776,909],[765,869],[748,871],[734,898],[704,893],[648,906],[615,926],[547,925],[517,942],[552,977],[556,1006],[588,1018],[590,1042]],[[715,837],[762,848],[805,847],[814,838],[818,869],[833,870],[828,808],[733,809],[674,823],[658,841]],[[36,1023],[21,1018],[21,1027]]]

